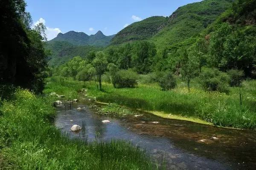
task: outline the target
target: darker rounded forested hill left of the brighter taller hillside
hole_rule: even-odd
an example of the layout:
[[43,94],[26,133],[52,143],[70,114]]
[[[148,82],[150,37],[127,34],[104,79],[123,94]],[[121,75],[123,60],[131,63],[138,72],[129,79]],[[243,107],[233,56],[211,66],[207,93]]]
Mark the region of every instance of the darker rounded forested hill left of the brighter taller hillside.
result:
[[166,21],[167,18],[165,17],[149,17],[140,22],[132,23],[118,32],[111,40],[111,44],[151,38],[165,26]]

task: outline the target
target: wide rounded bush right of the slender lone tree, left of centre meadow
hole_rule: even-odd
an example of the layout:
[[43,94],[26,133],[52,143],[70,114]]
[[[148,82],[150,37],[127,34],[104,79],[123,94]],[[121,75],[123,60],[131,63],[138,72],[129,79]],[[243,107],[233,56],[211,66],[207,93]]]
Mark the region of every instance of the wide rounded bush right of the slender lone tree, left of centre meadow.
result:
[[132,70],[119,70],[113,77],[118,87],[135,87],[138,75]]

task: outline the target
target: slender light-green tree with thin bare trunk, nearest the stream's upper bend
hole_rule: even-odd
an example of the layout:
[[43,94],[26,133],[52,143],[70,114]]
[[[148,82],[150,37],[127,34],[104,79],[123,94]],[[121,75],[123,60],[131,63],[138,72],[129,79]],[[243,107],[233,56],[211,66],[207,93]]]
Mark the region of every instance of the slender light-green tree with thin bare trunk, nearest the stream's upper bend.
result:
[[95,68],[97,80],[99,82],[99,90],[102,90],[102,75],[107,70],[108,61],[104,52],[96,52],[95,56],[92,64]]

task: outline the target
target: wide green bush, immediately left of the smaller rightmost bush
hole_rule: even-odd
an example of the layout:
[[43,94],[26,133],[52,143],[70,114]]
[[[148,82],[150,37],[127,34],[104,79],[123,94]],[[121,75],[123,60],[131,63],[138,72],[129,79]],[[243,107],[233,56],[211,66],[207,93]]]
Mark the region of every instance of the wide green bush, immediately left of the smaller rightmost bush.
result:
[[201,84],[207,91],[229,92],[230,77],[215,68],[204,68],[200,75]]

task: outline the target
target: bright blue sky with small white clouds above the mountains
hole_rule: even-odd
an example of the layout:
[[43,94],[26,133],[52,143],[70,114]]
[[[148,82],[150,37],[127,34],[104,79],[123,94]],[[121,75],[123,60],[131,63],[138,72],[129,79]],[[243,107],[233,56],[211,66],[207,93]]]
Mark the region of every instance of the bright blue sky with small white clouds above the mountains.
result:
[[69,31],[113,35],[151,16],[170,16],[201,0],[26,0],[33,25],[44,23],[48,40]]

